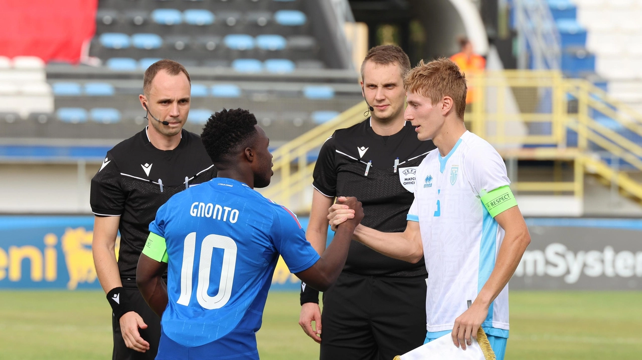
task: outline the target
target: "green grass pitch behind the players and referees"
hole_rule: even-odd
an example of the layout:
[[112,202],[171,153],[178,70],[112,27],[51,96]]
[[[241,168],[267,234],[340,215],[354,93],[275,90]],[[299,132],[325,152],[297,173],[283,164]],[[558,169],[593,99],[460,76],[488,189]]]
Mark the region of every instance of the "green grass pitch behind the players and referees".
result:
[[[506,359],[640,359],[642,292],[511,291]],[[263,360],[318,359],[300,329],[299,295],[270,293],[258,332]],[[110,309],[100,291],[0,291],[2,359],[111,356]]]

